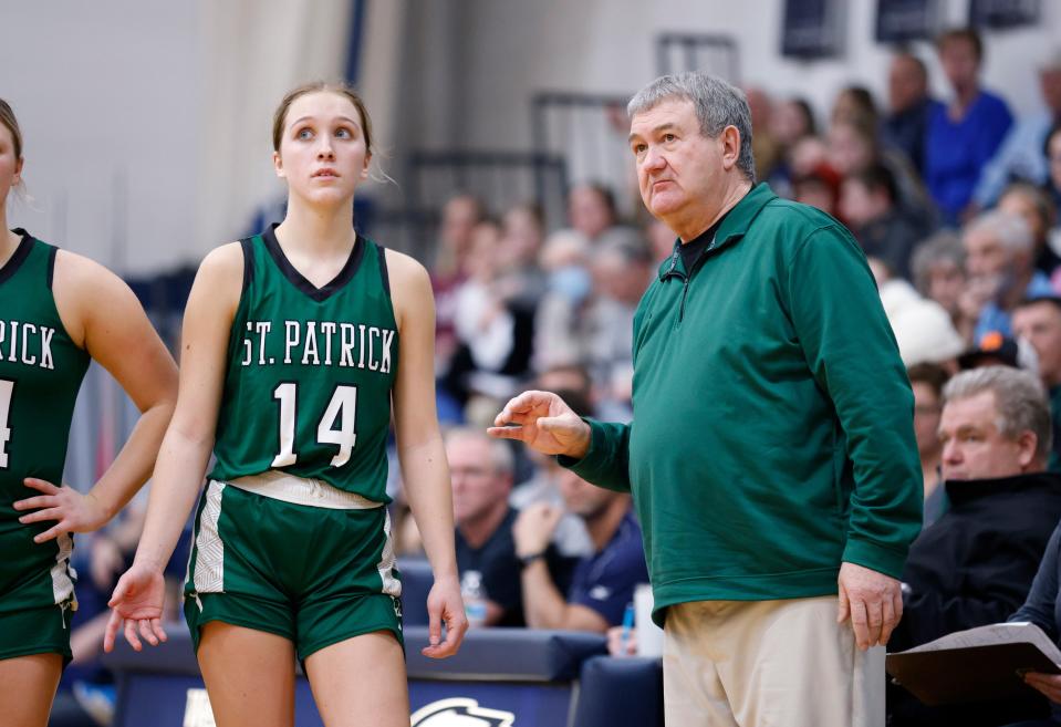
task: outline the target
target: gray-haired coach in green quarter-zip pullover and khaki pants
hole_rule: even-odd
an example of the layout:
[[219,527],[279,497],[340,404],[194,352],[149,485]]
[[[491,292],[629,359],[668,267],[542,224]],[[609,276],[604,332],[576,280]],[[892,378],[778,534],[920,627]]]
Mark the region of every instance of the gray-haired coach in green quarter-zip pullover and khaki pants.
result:
[[490,433],[633,491],[668,725],[883,725],[864,650],[902,613],[922,485],[865,258],[756,185],[740,91],[664,76],[628,112],[642,198],[679,238],[634,319],[634,420],[526,392]]

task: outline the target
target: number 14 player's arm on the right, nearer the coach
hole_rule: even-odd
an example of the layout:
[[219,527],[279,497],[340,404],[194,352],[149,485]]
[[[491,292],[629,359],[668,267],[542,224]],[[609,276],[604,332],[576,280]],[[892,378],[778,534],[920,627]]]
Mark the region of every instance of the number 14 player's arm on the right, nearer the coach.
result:
[[[424,654],[440,658],[457,652],[468,620],[457,579],[449,468],[435,409],[435,303],[423,266],[391,250],[386,256],[401,342],[394,386],[398,459],[413,517],[435,574],[427,599],[430,645]],[[447,626],[445,642],[441,621]]]

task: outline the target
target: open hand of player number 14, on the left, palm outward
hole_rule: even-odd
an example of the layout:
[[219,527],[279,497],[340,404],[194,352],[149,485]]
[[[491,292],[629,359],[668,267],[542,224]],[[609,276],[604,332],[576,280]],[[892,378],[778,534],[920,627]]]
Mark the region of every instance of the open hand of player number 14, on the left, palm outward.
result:
[[162,570],[133,563],[114,586],[114,593],[107,605],[111,606],[111,620],[103,635],[103,651],[114,648],[118,630],[125,632],[125,641],[141,651],[143,645],[137,636],[143,636],[152,646],[166,641],[166,631],[162,625],[163,604],[166,598],[166,584]]

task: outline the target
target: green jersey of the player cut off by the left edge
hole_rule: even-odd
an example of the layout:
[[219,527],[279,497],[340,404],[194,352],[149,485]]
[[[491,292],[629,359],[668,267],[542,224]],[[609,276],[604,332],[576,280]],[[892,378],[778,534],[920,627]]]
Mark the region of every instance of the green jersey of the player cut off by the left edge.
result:
[[89,368],[52,295],[56,249],[14,231],[22,241],[0,268],[0,532],[25,527],[11,507],[38,495],[25,477],[62,482],[70,419]]

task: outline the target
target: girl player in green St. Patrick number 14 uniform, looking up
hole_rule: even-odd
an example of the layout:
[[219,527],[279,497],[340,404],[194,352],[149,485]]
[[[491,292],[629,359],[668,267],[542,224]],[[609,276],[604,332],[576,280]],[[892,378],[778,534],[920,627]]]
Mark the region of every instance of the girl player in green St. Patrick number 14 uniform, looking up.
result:
[[[408,726],[401,584],[385,494],[392,415],[435,572],[428,656],[467,621],[435,415],[434,303],[413,259],[356,236],[372,126],[351,90],[311,84],[273,120],[283,222],[218,248],[185,312],[180,394],[106,645],[165,638],[163,565],[211,446],[185,615],[220,727],[290,727],[294,660],[329,727]],[[441,622],[447,625],[441,638]]]

